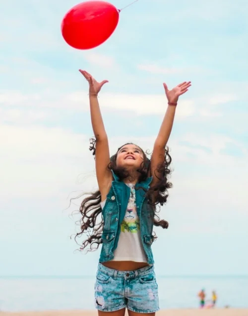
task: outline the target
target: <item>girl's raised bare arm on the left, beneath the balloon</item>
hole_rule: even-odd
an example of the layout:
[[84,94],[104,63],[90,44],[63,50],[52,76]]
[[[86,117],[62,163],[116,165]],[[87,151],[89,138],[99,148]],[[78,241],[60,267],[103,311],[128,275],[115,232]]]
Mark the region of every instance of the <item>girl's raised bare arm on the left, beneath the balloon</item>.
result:
[[109,142],[98,103],[98,93],[108,81],[97,82],[88,72],[79,70],[89,82],[90,116],[93,132],[96,137],[96,176],[102,201],[106,199],[112,182],[112,173],[108,169],[110,163]]

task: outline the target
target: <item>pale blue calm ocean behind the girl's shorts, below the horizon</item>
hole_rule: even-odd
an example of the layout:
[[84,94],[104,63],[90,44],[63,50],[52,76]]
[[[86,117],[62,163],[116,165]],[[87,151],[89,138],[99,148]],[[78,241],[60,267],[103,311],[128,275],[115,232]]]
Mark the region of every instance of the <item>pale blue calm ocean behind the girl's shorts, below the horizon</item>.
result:
[[[93,310],[94,277],[1,277],[0,311]],[[159,277],[160,308],[198,308],[197,293],[218,295],[217,307],[248,308],[248,276]]]

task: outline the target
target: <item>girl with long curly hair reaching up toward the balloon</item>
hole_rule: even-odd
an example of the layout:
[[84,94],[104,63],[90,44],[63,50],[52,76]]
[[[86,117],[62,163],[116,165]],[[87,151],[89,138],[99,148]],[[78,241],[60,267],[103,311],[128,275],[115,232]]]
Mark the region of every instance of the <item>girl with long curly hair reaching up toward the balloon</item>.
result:
[[[81,249],[102,244],[95,283],[98,315],[139,314],[154,316],[159,310],[158,286],[151,245],[156,238],[153,225],[168,227],[160,220],[156,206],[166,203],[171,157],[166,148],[179,96],[190,82],[169,90],[164,84],[168,108],[155,140],[151,159],[137,145],[127,143],[110,157],[107,133],[98,103],[98,94],[108,81],[98,83],[88,72],[79,70],[89,82],[91,140],[96,162],[99,191],[83,200],[81,231],[88,239]],[[98,218],[100,215],[100,220]]]

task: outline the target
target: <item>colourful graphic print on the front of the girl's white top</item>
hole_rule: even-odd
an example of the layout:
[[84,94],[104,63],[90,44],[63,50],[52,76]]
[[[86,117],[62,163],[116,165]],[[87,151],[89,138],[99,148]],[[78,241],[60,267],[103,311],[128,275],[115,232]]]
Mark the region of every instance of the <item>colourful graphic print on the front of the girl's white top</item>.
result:
[[136,211],[134,184],[129,185],[129,187],[130,187],[130,199],[127,204],[124,220],[121,223],[121,231],[136,233],[139,230],[139,218]]

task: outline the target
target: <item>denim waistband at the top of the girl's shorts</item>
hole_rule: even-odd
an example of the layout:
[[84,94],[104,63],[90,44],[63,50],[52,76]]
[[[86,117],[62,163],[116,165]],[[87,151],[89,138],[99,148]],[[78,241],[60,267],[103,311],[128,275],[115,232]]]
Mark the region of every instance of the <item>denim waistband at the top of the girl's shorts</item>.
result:
[[98,271],[101,271],[104,274],[107,274],[114,279],[116,278],[136,278],[138,276],[146,275],[147,273],[151,273],[154,271],[154,266],[147,266],[144,268],[140,268],[137,270],[131,270],[131,271],[119,271],[115,269],[110,269],[102,265],[100,262],[98,263]]

